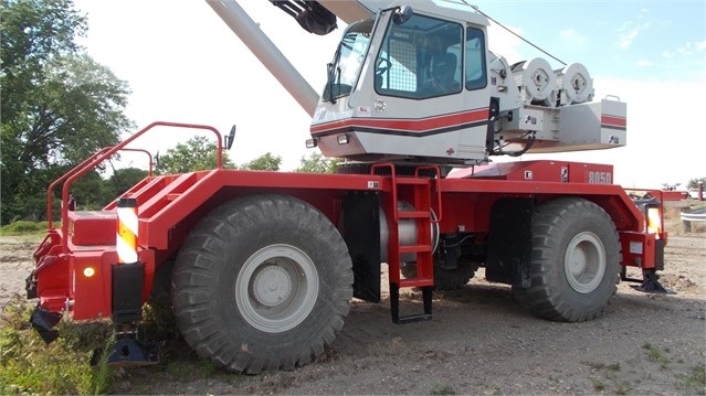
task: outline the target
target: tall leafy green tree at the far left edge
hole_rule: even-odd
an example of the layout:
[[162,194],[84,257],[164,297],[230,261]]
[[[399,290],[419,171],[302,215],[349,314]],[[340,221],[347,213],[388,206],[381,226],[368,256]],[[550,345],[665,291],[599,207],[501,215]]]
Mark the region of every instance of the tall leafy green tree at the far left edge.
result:
[[43,220],[48,185],[133,128],[127,83],[81,53],[85,31],[72,0],[0,0],[2,224]]

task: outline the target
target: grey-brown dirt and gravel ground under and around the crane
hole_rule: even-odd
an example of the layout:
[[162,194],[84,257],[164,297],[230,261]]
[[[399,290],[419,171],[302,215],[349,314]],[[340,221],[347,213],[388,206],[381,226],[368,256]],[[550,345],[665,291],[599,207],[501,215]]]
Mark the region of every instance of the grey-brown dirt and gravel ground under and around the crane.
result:
[[[294,372],[175,381],[156,370],[128,368],[116,392],[703,395],[706,233],[703,227],[682,233],[678,223],[673,228],[661,281],[676,293],[645,295],[622,282],[594,321],[533,318],[509,287],[484,281],[481,270],[463,289],[434,296],[430,322],[397,325],[387,300],[354,301],[325,356]],[[23,292],[36,240],[2,237],[0,245],[4,306]],[[401,309],[420,312],[420,297],[412,292]]]

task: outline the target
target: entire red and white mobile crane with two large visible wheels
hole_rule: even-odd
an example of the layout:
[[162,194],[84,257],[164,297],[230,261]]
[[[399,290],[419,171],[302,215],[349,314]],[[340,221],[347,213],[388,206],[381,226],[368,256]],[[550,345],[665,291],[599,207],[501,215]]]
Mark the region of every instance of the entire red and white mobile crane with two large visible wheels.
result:
[[[601,314],[626,267],[642,269],[643,290],[662,289],[658,192],[635,204],[607,164],[491,163],[625,145],[625,104],[593,101],[583,65],[510,65],[465,1],[271,0],[316,34],[337,17],[349,24],[319,96],[235,1],[207,2],[313,116],[307,146],[346,162],[308,174],[226,170],[219,157],[210,171],[150,175],[102,211],[70,210],[71,183],[152,127],[211,131],[219,156],[222,137],[155,122],[102,150],[62,178],[61,227],[34,254],[27,290],[45,341],[64,313],[112,318],[110,361],[154,361],[135,329],[160,271],[189,345],[247,373],[323,353],[352,297],[381,300],[382,264],[397,323],[430,320],[433,289],[480,267],[549,320]],[[403,288],[422,290],[421,312],[401,314]]]

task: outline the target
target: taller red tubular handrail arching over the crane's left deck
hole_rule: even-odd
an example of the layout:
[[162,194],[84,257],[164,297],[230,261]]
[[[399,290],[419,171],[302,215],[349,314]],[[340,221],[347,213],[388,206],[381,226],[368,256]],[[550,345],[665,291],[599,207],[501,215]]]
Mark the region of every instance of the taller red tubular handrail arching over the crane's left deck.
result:
[[[92,156],[88,160],[82,162],[78,167],[75,167],[74,169],[72,169],[72,171],[70,172],[71,175],[69,178],[66,178],[66,181],[64,182],[64,185],[62,188],[62,205],[61,205],[61,220],[62,220],[62,222],[61,222],[62,223],[61,224],[61,231],[62,231],[62,235],[63,235],[63,238],[62,238],[62,253],[64,253],[64,254],[69,253],[69,239],[66,238],[66,235],[69,234],[69,222],[67,222],[67,218],[69,218],[69,188],[71,186],[71,184],[76,179],[81,178],[86,172],[88,172],[89,170],[92,170],[95,167],[97,167],[101,162],[103,162],[106,159],[113,157],[113,154],[115,154],[117,151],[122,150],[125,146],[127,146],[133,140],[137,139],[138,137],[143,136],[145,132],[147,132],[148,130],[150,130],[154,127],[175,127],[175,128],[188,128],[188,129],[204,129],[204,130],[212,131],[213,133],[215,133],[215,137],[217,137],[217,168],[218,169],[222,169],[223,168],[223,142],[222,142],[223,138],[222,138],[221,133],[215,128],[209,127],[209,126],[204,126],[204,125],[198,125],[198,124],[181,124],[181,122],[166,122],[166,121],[155,121],[155,122],[148,125],[147,127],[138,130],[137,132],[135,132],[129,138],[127,138],[127,139],[123,140],[122,142],[119,142],[117,146],[114,146],[114,147],[109,148],[108,150],[101,150],[97,154]],[[78,168],[81,168],[81,169],[76,170]]]

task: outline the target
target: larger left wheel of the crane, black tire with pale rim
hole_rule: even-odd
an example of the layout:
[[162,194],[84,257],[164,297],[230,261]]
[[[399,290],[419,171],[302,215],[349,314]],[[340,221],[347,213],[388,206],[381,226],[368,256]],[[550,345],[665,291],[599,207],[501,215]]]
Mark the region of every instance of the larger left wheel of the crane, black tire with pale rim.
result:
[[187,343],[231,372],[310,363],[344,325],[352,268],[326,216],[291,196],[225,203],[191,232],[172,277]]

